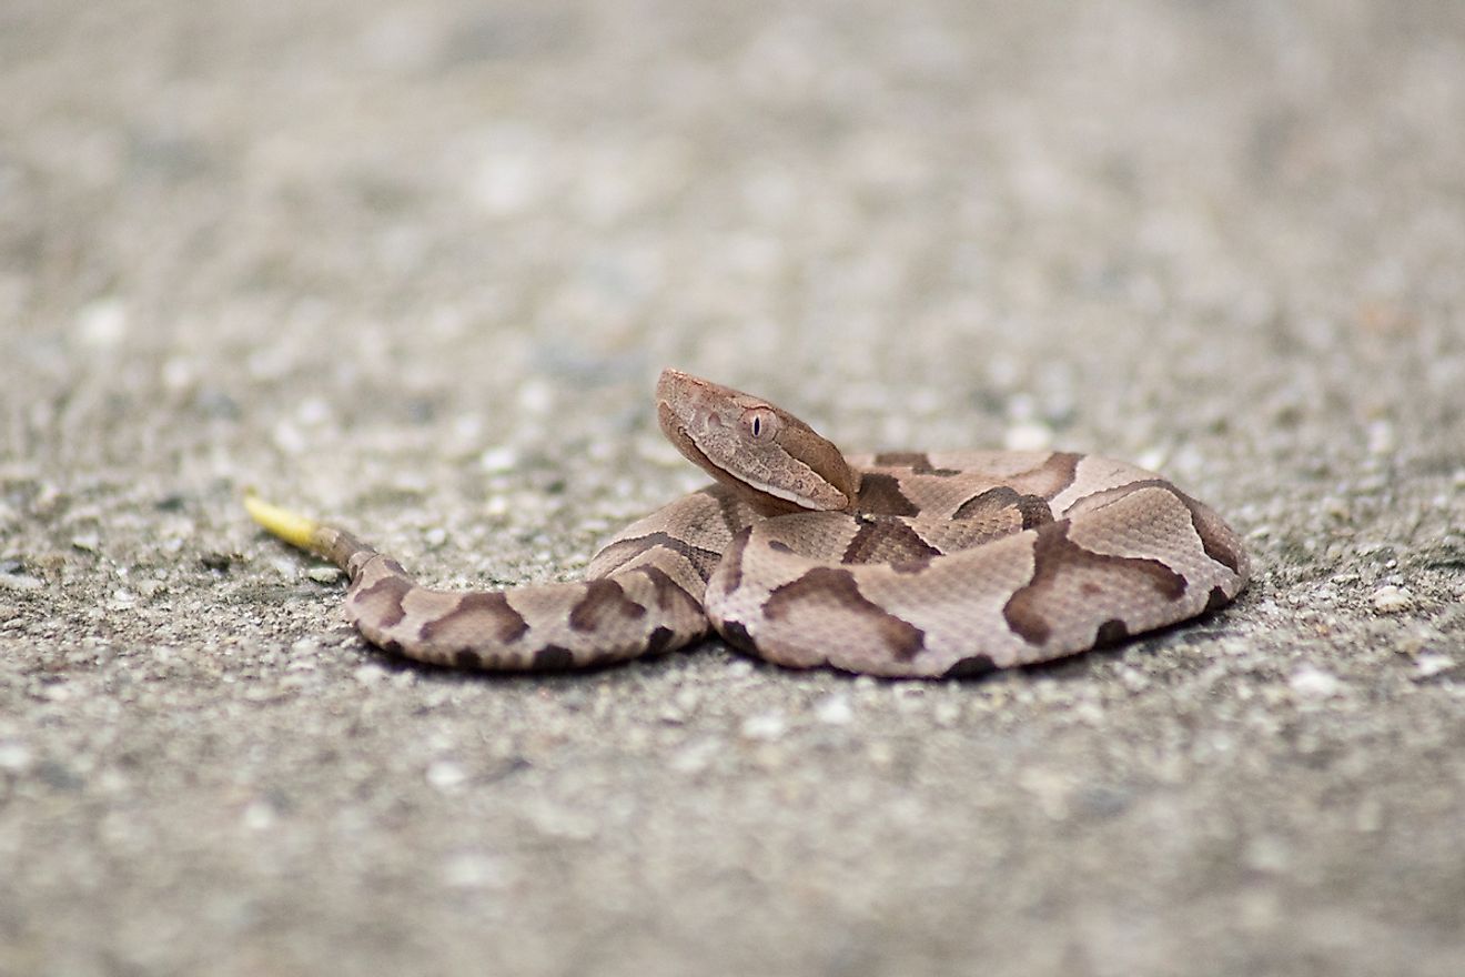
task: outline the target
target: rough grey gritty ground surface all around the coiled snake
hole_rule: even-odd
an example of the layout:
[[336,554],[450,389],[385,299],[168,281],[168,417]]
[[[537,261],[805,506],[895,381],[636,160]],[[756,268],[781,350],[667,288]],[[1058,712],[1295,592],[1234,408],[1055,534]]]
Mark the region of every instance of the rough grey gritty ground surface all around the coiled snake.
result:
[[[1465,10],[0,6],[0,973],[1465,973]],[[403,665],[697,482],[672,363],[1247,536],[971,683]]]

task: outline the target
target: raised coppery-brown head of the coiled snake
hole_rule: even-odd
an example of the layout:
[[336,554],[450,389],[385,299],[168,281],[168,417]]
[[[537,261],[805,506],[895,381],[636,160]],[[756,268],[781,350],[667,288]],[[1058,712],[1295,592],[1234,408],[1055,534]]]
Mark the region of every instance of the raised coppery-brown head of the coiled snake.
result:
[[782,407],[664,369],[656,417],[677,450],[768,513],[848,510],[856,476],[834,444]]

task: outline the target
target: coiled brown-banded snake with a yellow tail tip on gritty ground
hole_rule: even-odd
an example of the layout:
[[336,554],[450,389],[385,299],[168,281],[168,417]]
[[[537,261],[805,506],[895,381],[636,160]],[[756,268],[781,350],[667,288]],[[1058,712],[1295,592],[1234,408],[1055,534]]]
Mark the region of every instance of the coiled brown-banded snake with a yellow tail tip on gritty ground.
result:
[[713,482],[615,533],[579,582],[434,589],[341,527],[245,505],[346,573],[346,618],[368,642],[491,671],[608,665],[715,630],[791,668],[982,675],[1206,615],[1250,576],[1210,507],[1122,461],[847,456],[782,407],[675,369],[656,415]]

